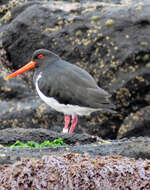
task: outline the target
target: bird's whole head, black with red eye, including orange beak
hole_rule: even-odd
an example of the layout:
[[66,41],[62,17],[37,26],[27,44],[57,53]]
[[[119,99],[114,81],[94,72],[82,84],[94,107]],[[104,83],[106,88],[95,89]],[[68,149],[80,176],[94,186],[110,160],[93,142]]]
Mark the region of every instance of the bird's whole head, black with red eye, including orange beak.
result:
[[46,50],[46,49],[36,50],[33,53],[32,59],[29,63],[27,63],[25,66],[21,67],[20,69],[18,69],[14,73],[10,74],[7,78],[8,79],[13,78],[13,77],[20,75],[21,73],[29,70],[29,69],[38,68],[43,63],[52,62],[52,61],[55,61],[57,59],[59,59],[59,57],[49,50]]

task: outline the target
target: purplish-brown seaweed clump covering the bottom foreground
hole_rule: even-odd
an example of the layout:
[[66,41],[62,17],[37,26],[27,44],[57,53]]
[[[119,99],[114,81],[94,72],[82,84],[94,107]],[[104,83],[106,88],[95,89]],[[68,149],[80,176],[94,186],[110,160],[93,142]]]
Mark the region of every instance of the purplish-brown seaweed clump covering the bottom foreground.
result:
[[0,167],[0,187],[7,189],[150,189],[150,161],[122,156],[66,154],[24,159]]

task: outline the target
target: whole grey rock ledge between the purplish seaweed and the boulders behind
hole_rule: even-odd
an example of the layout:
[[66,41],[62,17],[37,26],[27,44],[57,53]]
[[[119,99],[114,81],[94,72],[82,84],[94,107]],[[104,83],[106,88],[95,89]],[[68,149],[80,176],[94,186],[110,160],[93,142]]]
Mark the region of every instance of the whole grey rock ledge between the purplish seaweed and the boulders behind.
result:
[[21,158],[42,158],[44,155],[63,155],[66,153],[86,154],[92,157],[97,155],[122,155],[135,159],[150,159],[150,138],[138,137],[122,140],[103,141],[98,137],[83,134],[60,134],[46,129],[4,129],[0,131],[0,144],[12,145],[16,141],[36,141],[62,138],[66,146],[46,148],[10,148],[3,146],[0,149],[0,164],[12,164]]

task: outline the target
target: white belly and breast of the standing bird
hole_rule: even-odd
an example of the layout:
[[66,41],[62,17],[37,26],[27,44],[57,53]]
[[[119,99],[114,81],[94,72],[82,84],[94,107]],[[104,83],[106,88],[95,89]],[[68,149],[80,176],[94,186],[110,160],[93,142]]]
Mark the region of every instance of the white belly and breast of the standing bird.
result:
[[55,109],[58,112],[62,112],[64,114],[68,114],[68,115],[90,115],[92,112],[94,111],[99,111],[101,109],[94,109],[94,108],[88,108],[88,107],[80,107],[78,105],[70,105],[70,104],[60,104],[56,99],[52,98],[52,97],[47,97],[45,96],[39,89],[38,87],[38,80],[41,78],[41,74],[39,74],[39,76],[37,77],[36,80],[36,90],[40,96],[40,98],[46,103],[48,104],[51,108]]

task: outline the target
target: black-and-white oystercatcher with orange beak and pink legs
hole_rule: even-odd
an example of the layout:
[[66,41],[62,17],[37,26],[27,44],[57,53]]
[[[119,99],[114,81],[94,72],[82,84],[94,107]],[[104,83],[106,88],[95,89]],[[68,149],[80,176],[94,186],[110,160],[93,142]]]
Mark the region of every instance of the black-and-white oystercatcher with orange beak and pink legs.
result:
[[77,115],[89,115],[100,110],[115,112],[111,95],[100,88],[87,71],[46,49],[36,50],[32,60],[9,75],[8,79],[32,68],[35,68],[33,81],[40,98],[65,114],[63,132],[68,132],[70,115],[72,124],[69,133],[72,133],[78,123]]

